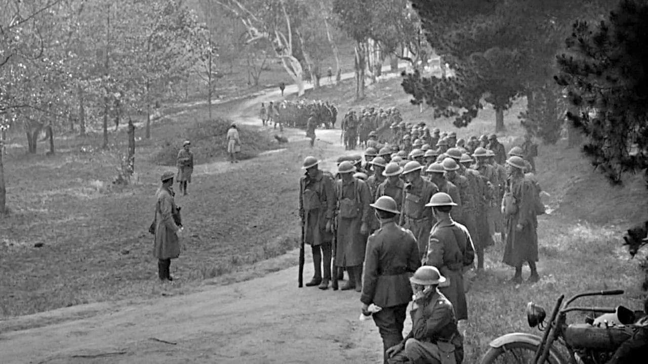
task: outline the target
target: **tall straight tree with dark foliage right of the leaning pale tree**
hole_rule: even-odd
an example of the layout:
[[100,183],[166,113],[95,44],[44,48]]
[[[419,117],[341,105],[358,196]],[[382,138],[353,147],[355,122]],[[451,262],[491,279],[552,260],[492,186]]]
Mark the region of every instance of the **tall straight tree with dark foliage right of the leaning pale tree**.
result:
[[338,16],[338,27],[356,42],[354,49],[356,100],[364,98],[367,40],[371,36],[373,25],[372,14],[367,9],[372,5],[372,1],[369,0],[333,0],[333,12]]

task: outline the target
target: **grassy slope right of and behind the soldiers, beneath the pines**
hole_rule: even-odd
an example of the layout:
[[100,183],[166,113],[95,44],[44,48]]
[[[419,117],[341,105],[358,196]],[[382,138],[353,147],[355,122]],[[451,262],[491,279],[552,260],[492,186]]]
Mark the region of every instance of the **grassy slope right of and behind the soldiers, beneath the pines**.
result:
[[[419,113],[402,93],[399,80],[378,84],[367,90],[367,98],[354,98],[354,85],[347,83],[336,90],[321,89],[307,95],[314,99],[332,99],[340,112],[348,108],[396,106],[408,122],[424,121],[441,130],[456,130],[459,137],[480,135],[494,130],[494,112],[486,108],[466,129],[457,130],[452,120],[432,120],[430,110]],[[500,135],[507,149],[521,142],[522,128],[517,119],[525,107],[516,102],[505,113],[507,133]],[[557,207],[551,215],[540,216],[540,274],[543,279],[533,286],[507,284],[511,268],[500,263],[503,247],[487,251],[487,273],[468,295],[470,322],[466,337],[466,363],[476,363],[488,348],[488,342],[507,332],[535,332],[526,324],[524,306],[535,301],[549,313],[559,295],[573,295],[586,290],[623,288],[623,297],[584,299],[584,306],[642,307],[639,270],[635,260],[628,260],[621,248],[621,234],[645,218],[648,193],[640,178],[629,177],[625,188],[612,188],[592,171],[576,149],[567,149],[564,141],[555,146],[540,146],[537,160],[540,185],[551,194],[550,204]],[[526,275],[528,272],[525,273]],[[570,316],[571,317],[571,316]],[[582,322],[582,318],[574,317]],[[541,334],[541,333],[540,333]]]

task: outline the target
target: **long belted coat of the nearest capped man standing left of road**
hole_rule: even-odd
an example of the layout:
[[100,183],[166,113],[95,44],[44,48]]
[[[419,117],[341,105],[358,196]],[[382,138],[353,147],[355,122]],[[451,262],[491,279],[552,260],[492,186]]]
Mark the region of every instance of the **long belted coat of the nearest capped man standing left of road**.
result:
[[180,244],[178,241],[178,225],[173,220],[176,202],[170,189],[160,187],[156,192],[156,234],[153,246],[153,256],[158,259],[178,258]]

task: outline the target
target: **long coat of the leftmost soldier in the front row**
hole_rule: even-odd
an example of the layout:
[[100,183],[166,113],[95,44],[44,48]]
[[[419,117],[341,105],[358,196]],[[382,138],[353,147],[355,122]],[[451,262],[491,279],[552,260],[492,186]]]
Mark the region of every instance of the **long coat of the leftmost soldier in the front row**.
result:
[[326,222],[334,217],[337,196],[332,177],[318,170],[314,178],[305,174],[299,179],[299,215],[304,221],[304,242],[321,245],[330,242]]

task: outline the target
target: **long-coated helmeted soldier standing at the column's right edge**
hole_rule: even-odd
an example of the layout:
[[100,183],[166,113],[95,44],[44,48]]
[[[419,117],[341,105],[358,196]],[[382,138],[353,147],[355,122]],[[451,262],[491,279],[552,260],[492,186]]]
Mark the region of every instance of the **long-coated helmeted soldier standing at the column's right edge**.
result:
[[506,218],[506,245],[503,262],[515,267],[516,284],[522,283],[522,264],[529,263],[529,282],[540,280],[535,262],[538,261],[538,220],[535,210],[535,187],[524,177],[524,159],[509,157],[506,161],[508,179],[507,192],[502,199],[502,210]]

